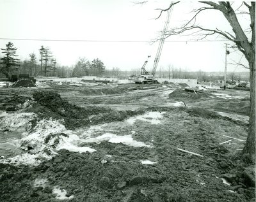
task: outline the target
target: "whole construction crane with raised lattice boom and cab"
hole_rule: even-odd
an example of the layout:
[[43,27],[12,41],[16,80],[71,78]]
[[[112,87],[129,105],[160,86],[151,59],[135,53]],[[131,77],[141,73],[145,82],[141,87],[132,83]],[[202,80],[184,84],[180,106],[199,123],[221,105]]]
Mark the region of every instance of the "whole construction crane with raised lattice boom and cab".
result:
[[[166,20],[164,22],[164,28],[163,31],[161,33],[161,38],[159,39],[159,45],[157,48],[157,53],[156,53],[156,57],[154,59],[154,65],[152,68],[152,73],[148,73],[148,71],[145,69],[145,66],[147,64],[148,61],[145,61],[142,68],[141,68],[141,75],[138,77],[137,80],[135,80],[135,83],[158,83],[157,80],[155,79],[155,73],[156,73],[156,69],[157,69],[157,65],[161,56],[161,52],[163,50],[163,45],[164,45],[164,40],[165,40],[165,33],[167,30],[167,27],[169,25],[170,22],[170,16],[173,10],[173,6],[172,8],[170,8],[170,10],[167,11],[167,17]],[[150,55],[148,55],[148,57],[150,57]]]

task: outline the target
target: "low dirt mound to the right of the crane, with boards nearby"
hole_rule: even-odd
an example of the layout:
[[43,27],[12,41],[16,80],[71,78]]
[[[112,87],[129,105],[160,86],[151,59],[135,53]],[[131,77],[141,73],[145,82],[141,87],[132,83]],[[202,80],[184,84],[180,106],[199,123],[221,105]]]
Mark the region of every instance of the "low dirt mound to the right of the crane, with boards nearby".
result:
[[182,89],[176,89],[172,93],[169,94],[170,99],[174,100],[193,100],[193,99],[202,99],[204,97],[209,97],[209,94],[206,91],[199,92],[195,94],[194,92],[187,92]]

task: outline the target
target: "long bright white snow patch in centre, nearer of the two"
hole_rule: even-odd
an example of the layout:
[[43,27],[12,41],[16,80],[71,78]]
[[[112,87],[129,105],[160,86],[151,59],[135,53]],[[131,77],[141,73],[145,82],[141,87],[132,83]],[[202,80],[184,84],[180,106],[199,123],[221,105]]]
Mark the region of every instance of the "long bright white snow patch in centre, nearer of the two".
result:
[[124,143],[125,145],[132,146],[132,147],[152,147],[150,145],[146,145],[141,141],[133,140],[131,134],[118,136],[113,133],[105,133],[105,134],[102,134],[101,136],[97,136],[96,138],[88,138],[83,141],[84,142],[109,141],[111,143]]

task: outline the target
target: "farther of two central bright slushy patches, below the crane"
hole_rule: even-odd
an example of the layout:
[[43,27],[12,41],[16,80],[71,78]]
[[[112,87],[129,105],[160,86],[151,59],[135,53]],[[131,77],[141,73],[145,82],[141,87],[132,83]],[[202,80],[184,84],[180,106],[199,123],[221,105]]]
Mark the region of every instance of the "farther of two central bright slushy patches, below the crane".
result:
[[160,124],[161,123],[161,118],[163,118],[163,114],[165,112],[148,112],[143,115],[138,115],[136,117],[131,117],[125,122],[128,124],[132,125],[136,120],[143,120],[145,122],[150,122],[151,124]]

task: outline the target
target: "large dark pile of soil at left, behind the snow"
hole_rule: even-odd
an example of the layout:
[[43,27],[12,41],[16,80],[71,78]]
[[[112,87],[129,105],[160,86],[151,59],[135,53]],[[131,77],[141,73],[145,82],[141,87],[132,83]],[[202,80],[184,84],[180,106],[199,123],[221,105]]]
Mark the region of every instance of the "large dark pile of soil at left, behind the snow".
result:
[[143,111],[115,111],[108,107],[76,106],[61,98],[60,94],[52,91],[38,91],[33,93],[36,101],[26,112],[40,114],[40,117],[63,119],[67,129],[90,126],[104,122],[124,120]]

